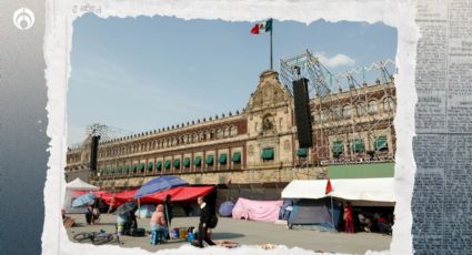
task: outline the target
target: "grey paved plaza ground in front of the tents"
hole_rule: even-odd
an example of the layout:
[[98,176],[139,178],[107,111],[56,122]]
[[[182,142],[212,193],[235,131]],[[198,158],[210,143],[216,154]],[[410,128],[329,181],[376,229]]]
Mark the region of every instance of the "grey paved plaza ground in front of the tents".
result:
[[[100,224],[87,226],[83,214],[70,214],[81,226],[68,228],[68,235],[72,236],[80,232],[104,230],[114,233],[116,216],[104,214],[100,216]],[[198,217],[177,217],[172,220],[172,227],[198,226]],[[139,227],[149,230],[149,218],[138,218]],[[241,245],[263,245],[280,244],[288,247],[301,247],[310,251],[337,252],[364,254],[366,251],[385,251],[390,248],[392,237],[378,233],[330,233],[308,230],[288,230],[285,225],[274,223],[251,222],[243,220],[232,220],[220,217],[219,224],[213,230],[213,237],[217,239],[228,239]],[[152,246],[149,237],[120,236],[120,246],[141,247],[150,252],[163,248],[180,247],[189,245],[187,242],[172,242]]]

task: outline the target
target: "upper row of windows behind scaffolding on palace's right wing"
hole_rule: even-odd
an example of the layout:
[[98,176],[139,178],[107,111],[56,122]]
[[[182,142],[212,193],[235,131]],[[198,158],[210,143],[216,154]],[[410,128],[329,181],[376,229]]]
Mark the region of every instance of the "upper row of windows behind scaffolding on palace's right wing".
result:
[[[389,112],[394,109],[393,99],[388,96],[383,100],[383,111]],[[369,101],[365,103],[358,103],[355,105],[355,113],[358,116],[363,116],[366,113],[375,114],[378,113],[378,102],[375,100]],[[353,109],[351,104],[345,104],[342,108],[335,106],[332,111],[328,109],[323,109],[320,114],[321,121],[330,121],[330,120],[341,120],[341,119],[350,119],[352,118]]]

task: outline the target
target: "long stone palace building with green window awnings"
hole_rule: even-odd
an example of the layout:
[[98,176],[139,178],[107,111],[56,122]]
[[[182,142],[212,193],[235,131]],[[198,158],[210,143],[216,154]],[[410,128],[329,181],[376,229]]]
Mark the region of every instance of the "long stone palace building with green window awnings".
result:
[[393,165],[395,102],[393,78],[311,99],[313,146],[299,149],[291,91],[278,72],[264,71],[241,112],[100,141],[93,173],[89,137],[68,149],[66,176],[114,191],[165,174],[190,184],[280,190],[294,178],[325,178],[331,165]]

